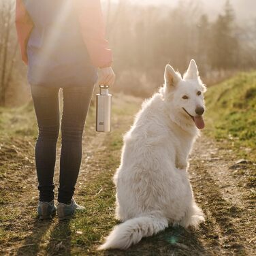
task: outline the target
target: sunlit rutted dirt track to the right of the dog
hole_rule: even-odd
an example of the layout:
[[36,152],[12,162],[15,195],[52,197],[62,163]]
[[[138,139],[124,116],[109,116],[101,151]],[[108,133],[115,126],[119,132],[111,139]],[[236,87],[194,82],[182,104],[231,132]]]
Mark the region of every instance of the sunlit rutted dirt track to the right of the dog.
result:
[[256,212],[251,178],[255,167],[204,135],[197,140],[190,174],[195,197],[207,218],[200,240],[208,253],[254,255]]

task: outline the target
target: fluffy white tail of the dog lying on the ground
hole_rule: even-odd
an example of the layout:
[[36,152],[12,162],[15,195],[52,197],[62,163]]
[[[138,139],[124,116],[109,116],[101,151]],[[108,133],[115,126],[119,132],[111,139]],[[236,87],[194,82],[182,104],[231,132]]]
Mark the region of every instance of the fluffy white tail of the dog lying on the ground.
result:
[[164,217],[147,215],[129,219],[114,227],[106,242],[99,246],[98,250],[128,249],[131,244],[137,244],[143,237],[153,236],[168,226]]

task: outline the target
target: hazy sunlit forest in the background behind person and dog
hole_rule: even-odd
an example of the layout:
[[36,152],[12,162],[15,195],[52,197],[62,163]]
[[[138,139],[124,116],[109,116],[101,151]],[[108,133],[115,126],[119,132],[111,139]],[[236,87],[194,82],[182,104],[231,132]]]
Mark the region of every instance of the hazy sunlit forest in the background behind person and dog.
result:
[[[25,103],[29,93],[14,9],[13,0],[0,0],[1,106]],[[167,63],[184,73],[190,59],[208,85],[256,67],[256,20],[240,25],[229,0],[214,19],[198,0],[180,0],[175,7],[103,1],[103,12],[114,52],[114,91],[148,97],[163,83]]]

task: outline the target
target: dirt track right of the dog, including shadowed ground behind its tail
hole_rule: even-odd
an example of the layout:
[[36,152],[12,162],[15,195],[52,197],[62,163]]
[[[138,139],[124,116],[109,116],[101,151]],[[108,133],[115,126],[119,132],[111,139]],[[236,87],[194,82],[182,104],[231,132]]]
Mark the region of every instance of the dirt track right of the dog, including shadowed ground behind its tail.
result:
[[191,154],[189,173],[206,223],[196,231],[169,227],[155,238],[144,238],[127,255],[255,255],[255,163],[239,161],[232,150],[202,135]]

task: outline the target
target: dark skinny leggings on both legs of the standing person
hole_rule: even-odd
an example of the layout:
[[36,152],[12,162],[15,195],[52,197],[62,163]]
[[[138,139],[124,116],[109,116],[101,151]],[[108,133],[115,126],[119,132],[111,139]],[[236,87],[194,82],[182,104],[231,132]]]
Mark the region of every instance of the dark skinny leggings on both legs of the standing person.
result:
[[[63,88],[61,163],[58,201],[69,204],[74,195],[82,159],[82,133],[94,86]],[[39,201],[54,199],[54,167],[59,137],[59,88],[31,86],[38,123],[35,144]]]

